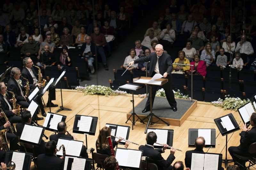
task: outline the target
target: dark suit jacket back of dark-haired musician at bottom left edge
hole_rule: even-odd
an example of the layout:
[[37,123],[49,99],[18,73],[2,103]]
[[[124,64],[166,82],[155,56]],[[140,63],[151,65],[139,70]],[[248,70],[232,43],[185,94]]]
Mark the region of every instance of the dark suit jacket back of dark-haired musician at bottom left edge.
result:
[[40,154],[36,160],[37,169],[38,170],[62,170],[64,166],[64,159],[58,158],[56,155],[53,154]]

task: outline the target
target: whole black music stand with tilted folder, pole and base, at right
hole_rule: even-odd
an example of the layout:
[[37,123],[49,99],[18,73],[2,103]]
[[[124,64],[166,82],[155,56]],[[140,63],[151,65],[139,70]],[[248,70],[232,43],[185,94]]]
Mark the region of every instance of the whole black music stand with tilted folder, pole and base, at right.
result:
[[[221,122],[222,122],[222,121],[221,121],[221,118],[222,118],[222,117],[225,117],[225,116],[228,116],[228,117],[229,117],[229,119],[231,120],[232,124],[233,124],[234,127],[235,127],[234,129],[227,131],[227,129],[222,126],[222,124],[221,124]],[[227,152],[228,152],[228,134],[233,133],[233,132],[239,130],[240,128],[239,128],[239,125],[237,124],[236,119],[235,119],[235,117],[233,116],[232,113],[230,113],[230,114],[228,114],[228,115],[225,115],[225,116],[221,116],[221,117],[219,117],[219,118],[214,119],[214,122],[215,122],[215,124],[217,125],[218,129],[220,130],[221,135],[222,135],[222,136],[226,136],[226,155],[225,155],[225,159],[222,159],[222,162],[225,163],[225,168],[227,168],[229,162],[234,162],[233,159],[228,159],[228,158],[227,158]]]

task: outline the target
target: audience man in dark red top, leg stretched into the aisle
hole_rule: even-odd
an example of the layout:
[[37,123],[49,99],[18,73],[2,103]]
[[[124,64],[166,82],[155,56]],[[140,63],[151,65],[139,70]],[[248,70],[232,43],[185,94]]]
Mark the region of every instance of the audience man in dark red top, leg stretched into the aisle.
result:
[[96,44],[97,46],[97,51],[101,56],[101,60],[103,63],[103,68],[105,70],[108,70],[108,65],[107,65],[107,57],[104,51],[104,47],[107,45],[107,41],[103,33],[100,33],[100,28],[95,27],[94,28],[94,33],[92,33],[92,42]]

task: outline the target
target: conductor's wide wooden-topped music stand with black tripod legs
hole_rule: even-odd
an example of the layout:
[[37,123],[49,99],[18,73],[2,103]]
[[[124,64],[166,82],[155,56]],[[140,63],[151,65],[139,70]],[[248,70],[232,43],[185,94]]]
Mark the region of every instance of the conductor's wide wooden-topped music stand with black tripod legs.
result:
[[[138,81],[138,80],[142,80],[142,81]],[[161,119],[160,117],[156,116],[153,112],[152,112],[152,85],[164,85],[165,83],[168,82],[167,78],[158,78],[155,80],[156,83],[150,83],[147,82],[147,80],[151,80],[151,77],[137,77],[137,78],[133,78],[133,83],[140,83],[140,84],[145,84],[149,86],[149,92],[150,92],[150,114],[143,119],[143,121],[145,119],[148,119],[148,123],[147,123],[147,127],[145,129],[145,134],[147,133],[148,130],[148,125],[153,125],[155,123],[157,123],[158,121],[162,121],[164,122],[164,124],[166,124],[167,126],[169,126],[170,124],[165,122],[163,119]],[[153,122],[153,117],[157,118],[158,121],[157,122]]]

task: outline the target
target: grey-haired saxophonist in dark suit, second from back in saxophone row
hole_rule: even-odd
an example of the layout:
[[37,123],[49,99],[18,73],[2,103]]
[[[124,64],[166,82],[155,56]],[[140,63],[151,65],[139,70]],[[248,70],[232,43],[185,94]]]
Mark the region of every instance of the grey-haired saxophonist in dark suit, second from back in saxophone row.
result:
[[20,69],[17,67],[13,67],[11,70],[11,78],[8,81],[7,89],[8,91],[12,91],[15,94],[15,98],[17,103],[21,107],[28,108],[29,103],[25,97],[25,87],[19,84],[18,80],[20,79]]

